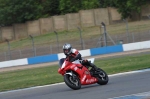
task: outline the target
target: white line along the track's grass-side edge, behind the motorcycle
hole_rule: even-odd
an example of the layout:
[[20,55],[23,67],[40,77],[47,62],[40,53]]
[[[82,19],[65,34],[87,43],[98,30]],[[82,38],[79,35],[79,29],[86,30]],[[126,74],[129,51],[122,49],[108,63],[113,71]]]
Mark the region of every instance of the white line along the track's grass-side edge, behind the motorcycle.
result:
[[[146,71],[150,71],[150,68],[149,69],[143,69],[143,70],[137,70],[137,71],[131,71],[131,72],[112,74],[112,75],[108,75],[108,76],[113,77],[113,76],[120,76],[120,75],[133,74],[133,73],[146,72]],[[36,86],[36,87],[18,89],[18,90],[5,91],[5,92],[0,92],[0,94],[10,93],[10,92],[17,92],[17,91],[24,91],[24,90],[30,90],[30,89],[36,89],[36,88],[44,88],[44,87],[49,87],[49,86],[61,85],[61,84],[64,84],[64,82],[56,83],[56,84],[50,84],[50,85],[44,85],[44,86]]]

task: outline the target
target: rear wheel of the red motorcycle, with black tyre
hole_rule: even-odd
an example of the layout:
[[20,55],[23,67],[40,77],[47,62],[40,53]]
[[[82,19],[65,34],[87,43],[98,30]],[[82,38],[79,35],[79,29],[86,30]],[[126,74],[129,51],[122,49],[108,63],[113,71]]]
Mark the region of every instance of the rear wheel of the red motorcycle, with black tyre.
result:
[[109,78],[108,78],[107,73],[100,68],[98,68],[98,72],[97,72],[96,77],[98,79],[98,82],[97,82],[98,84],[106,85],[108,83]]

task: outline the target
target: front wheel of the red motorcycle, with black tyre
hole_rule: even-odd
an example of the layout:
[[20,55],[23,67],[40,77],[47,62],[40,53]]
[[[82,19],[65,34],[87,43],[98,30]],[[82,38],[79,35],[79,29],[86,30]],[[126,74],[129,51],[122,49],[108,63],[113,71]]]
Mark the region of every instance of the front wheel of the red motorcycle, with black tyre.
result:
[[80,80],[76,75],[65,74],[64,81],[71,89],[78,90],[81,88]]

